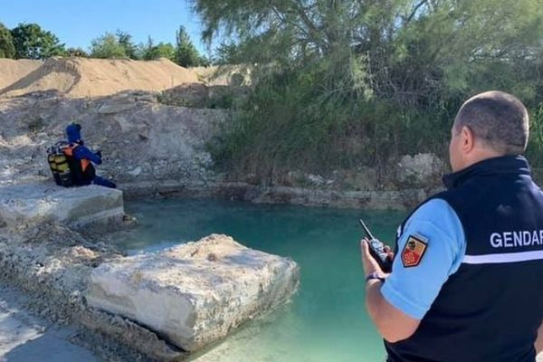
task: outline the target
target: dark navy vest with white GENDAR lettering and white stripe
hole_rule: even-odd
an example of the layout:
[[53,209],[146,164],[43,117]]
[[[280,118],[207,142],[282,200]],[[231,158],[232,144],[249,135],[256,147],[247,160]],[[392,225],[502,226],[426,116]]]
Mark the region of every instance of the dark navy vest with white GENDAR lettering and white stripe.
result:
[[534,362],[543,318],[543,193],[528,162],[491,158],[443,181],[448,190],[432,198],[458,214],[466,252],[414,335],[385,342],[388,361]]

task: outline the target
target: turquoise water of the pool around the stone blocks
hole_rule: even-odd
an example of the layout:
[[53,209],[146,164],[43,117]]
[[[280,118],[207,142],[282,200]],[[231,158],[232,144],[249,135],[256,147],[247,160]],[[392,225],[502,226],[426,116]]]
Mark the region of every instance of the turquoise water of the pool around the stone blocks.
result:
[[383,361],[381,339],[364,307],[364,273],[357,223],[392,241],[404,213],[209,200],[127,203],[140,224],[116,235],[130,253],[195,241],[209,233],[283,256],[300,265],[300,291],[292,302],[252,321],[193,360],[243,362]]

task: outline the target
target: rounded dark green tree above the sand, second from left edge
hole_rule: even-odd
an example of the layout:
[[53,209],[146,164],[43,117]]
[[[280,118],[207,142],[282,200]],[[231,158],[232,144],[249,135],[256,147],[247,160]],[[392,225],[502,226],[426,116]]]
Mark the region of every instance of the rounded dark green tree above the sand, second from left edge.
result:
[[16,59],[46,59],[64,55],[64,44],[38,24],[18,24],[12,29]]

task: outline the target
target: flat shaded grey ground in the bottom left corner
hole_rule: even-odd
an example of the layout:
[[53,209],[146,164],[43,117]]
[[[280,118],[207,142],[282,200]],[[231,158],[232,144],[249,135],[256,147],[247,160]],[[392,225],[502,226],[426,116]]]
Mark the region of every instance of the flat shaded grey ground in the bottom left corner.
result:
[[75,329],[61,327],[24,310],[26,297],[0,284],[0,361],[98,361],[71,342]]

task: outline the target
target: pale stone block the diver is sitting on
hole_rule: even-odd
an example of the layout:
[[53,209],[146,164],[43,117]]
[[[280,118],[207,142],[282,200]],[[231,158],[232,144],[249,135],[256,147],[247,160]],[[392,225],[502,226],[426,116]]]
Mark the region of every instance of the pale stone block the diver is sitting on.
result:
[[0,187],[0,224],[100,223],[124,214],[122,191],[101,186],[65,188],[48,184]]

